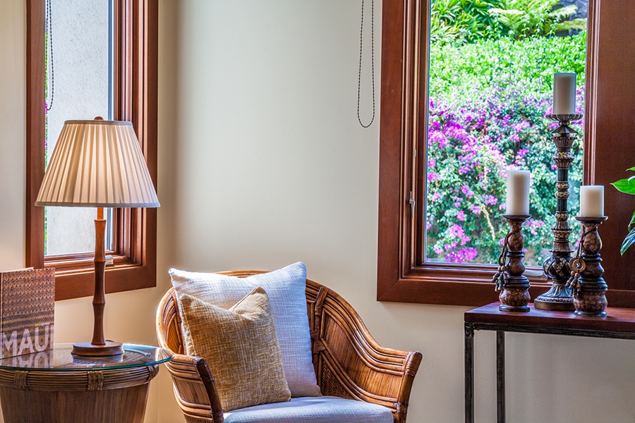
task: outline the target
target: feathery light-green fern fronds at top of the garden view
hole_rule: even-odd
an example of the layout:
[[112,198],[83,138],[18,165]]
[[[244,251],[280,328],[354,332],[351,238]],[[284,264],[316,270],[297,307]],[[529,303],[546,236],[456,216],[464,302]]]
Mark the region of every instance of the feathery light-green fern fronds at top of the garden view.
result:
[[564,22],[576,13],[576,6],[556,8],[559,4],[560,0],[502,0],[500,7],[491,8],[489,13],[515,39],[554,35],[560,30],[586,29],[586,19]]

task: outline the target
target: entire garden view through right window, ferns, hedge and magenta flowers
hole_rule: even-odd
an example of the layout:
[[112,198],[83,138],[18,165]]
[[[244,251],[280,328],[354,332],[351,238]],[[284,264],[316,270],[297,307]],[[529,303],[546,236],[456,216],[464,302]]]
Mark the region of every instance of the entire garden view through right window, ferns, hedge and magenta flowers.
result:
[[[492,264],[509,226],[508,170],[531,171],[527,265],[550,257],[557,167],[553,74],[577,75],[583,114],[588,0],[431,0],[425,262]],[[579,209],[583,122],[574,122],[569,214]],[[574,236],[571,236],[574,245]]]

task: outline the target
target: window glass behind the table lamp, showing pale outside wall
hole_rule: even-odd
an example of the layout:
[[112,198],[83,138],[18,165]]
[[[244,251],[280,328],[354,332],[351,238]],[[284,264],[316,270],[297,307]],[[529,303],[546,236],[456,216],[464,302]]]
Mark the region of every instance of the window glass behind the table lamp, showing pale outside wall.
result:
[[[47,0],[47,163],[64,121],[111,117],[109,14],[109,0]],[[96,213],[46,207],[44,255],[94,251]]]

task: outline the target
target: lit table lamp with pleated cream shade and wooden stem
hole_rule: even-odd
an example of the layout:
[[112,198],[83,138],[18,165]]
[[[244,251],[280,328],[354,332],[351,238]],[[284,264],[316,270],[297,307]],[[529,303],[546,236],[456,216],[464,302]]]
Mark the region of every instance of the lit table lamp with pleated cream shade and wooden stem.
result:
[[35,205],[97,207],[92,341],[73,344],[72,353],[87,356],[122,354],[121,343],[104,338],[104,207],[159,207],[157,192],[132,123],[102,118],[66,121],[44,173]]

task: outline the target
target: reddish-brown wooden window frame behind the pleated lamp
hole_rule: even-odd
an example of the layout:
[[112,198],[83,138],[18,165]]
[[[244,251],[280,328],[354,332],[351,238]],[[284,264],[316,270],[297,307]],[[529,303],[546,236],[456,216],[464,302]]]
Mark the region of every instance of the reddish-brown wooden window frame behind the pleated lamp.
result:
[[[157,56],[159,6],[154,0],[114,1],[114,118],[131,121],[157,184]],[[55,299],[93,294],[93,254],[44,257],[44,207],[35,198],[44,177],[45,1],[26,0],[26,265],[56,269]],[[73,116],[68,116],[72,118]],[[157,285],[157,210],[114,209],[114,266],[106,292]]]

